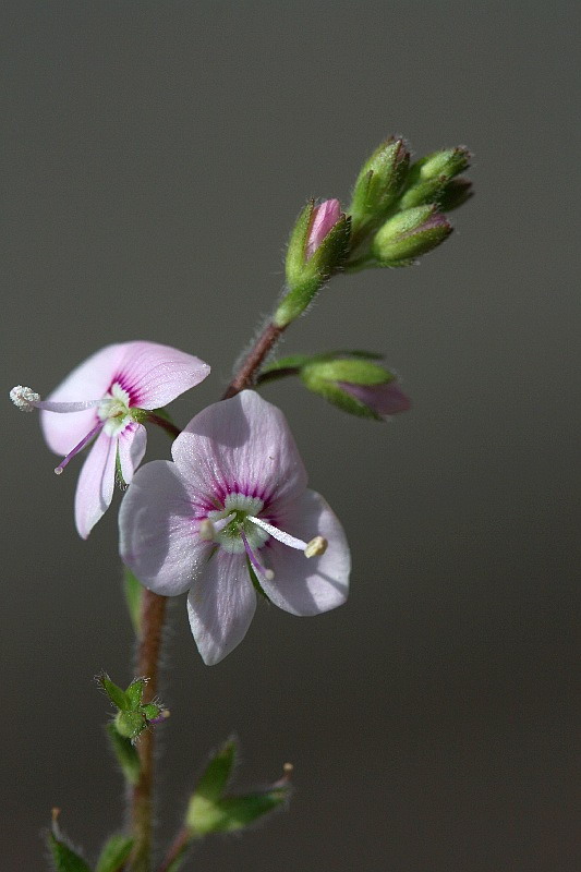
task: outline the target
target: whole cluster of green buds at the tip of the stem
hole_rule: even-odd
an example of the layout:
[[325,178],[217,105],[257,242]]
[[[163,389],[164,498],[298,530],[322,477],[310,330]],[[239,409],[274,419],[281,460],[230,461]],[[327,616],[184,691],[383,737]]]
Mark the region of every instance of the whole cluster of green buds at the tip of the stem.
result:
[[452,231],[445,213],[471,196],[458,178],[470,162],[463,146],[434,152],[410,165],[402,138],[390,137],[365,161],[351,204],[310,201],[294,226],[286,261],[286,293],[274,323],[285,328],[311,304],[336,271],[410,266]]

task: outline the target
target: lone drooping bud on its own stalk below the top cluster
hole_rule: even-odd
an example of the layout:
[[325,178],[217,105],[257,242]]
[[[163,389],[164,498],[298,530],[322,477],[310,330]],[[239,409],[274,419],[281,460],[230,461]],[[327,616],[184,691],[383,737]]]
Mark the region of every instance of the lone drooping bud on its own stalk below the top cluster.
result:
[[396,377],[370,359],[314,359],[301,370],[305,387],[344,412],[383,421],[410,408]]

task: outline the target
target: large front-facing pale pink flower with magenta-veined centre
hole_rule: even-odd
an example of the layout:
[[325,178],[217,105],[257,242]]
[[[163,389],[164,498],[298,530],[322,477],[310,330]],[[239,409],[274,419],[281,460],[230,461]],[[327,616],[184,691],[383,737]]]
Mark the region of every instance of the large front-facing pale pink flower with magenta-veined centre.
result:
[[119,513],[120,549],[156,593],[190,591],[190,623],[207,665],[246,634],[255,588],[293,615],[344,602],[343,530],[323,497],[306,489],[280,410],[244,390],[197,414],[172,456],[135,475]]

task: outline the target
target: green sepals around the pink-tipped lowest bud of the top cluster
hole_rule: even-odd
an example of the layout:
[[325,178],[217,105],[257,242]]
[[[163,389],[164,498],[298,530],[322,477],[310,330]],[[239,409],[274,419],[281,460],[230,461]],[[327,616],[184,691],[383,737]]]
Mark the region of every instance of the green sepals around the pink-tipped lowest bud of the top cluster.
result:
[[[347,215],[341,215],[337,223],[331,227],[325,239],[313,255],[305,259],[305,244],[314,205],[308,204],[308,223],[304,230],[304,216],[302,213],[298,225],[301,226],[302,249],[298,249],[295,233],[291,237],[291,244],[287,253],[287,286],[288,292],[282,298],[274,316],[273,323],[277,327],[286,327],[301,315],[313,302],[317,291],[329,278],[335,269],[342,266],[349,253],[349,240],[351,234],[351,219]],[[296,229],[295,229],[296,230]],[[291,253],[292,252],[292,253]],[[289,258],[290,254],[290,258]]]

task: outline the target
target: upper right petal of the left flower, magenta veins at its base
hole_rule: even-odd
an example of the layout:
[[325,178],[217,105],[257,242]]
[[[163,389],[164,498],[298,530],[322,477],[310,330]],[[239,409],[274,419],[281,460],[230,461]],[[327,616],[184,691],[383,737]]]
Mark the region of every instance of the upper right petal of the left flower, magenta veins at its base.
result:
[[126,342],[124,350],[116,375],[140,409],[166,405],[209,375],[207,363],[170,346]]

